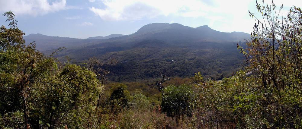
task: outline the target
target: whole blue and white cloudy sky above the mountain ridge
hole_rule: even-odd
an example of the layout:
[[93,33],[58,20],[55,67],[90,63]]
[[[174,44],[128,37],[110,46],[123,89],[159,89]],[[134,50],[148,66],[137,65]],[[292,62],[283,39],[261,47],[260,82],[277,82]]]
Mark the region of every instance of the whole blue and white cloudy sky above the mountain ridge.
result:
[[[284,15],[293,5],[302,7],[301,0],[274,3],[278,8],[283,4]],[[128,35],[150,23],[250,33],[255,19],[248,10],[257,14],[255,0],[0,0],[0,13],[10,10],[25,35],[72,38]],[[0,25],[7,26],[5,20],[0,16]]]

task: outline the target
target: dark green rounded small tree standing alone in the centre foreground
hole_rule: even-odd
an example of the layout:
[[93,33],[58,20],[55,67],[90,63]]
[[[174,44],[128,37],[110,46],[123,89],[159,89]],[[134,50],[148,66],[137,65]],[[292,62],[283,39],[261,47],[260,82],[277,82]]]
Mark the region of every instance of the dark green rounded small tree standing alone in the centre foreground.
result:
[[190,86],[168,86],[162,91],[162,112],[175,118],[176,124],[184,115],[192,116],[197,105],[197,95]]

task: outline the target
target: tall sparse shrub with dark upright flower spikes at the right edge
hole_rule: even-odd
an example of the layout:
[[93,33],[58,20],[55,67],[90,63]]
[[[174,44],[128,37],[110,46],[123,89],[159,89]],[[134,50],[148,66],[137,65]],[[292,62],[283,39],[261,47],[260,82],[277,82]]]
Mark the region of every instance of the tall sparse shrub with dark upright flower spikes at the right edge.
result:
[[[243,120],[253,120],[252,126],[261,128],[300,128],[302,120],[301,83],[302,82],[302,11],[293,6],[286,16],[281,16],[280,8],[272,2],[256,1],[260,18],[249,11],[256,23],[247,41],[248,48],[238,46],[249,64],[246,68],[255,78],[255,86],[235,98],[240,105],[252,108],[236,110],[246,114]],[[253,102],[242,101],[248,96],[258,96]],[[235,109],[236,109],[235,108]],[[249,118],[249,120],[247,120]],[[243,122],[245,126],[247,122]]]

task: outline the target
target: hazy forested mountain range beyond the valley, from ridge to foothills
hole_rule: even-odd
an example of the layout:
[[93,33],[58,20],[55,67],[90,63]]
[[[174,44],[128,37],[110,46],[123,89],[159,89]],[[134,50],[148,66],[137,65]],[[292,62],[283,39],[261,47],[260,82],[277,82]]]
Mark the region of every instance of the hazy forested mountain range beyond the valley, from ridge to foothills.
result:
[[230,76],[243,61],[236,44],[244,46],[244,39],[249,39],[250,35],[219,32],[208,26],[192,28],[176,23],[153,23],[130,35],[105,37],[110,38],[75,39],[30,34],[24,39],[36,41],[37,49],[46,55],[53,49],[66,47],[67,50],[57,56],[68,56],[78,64],[91,57],[102,61],[115,58],[118,63],[112,69],[113,80],[132,81],[157,78],[161,72],[170,72],[176,77],[190,77],[198,71],[206,78]]

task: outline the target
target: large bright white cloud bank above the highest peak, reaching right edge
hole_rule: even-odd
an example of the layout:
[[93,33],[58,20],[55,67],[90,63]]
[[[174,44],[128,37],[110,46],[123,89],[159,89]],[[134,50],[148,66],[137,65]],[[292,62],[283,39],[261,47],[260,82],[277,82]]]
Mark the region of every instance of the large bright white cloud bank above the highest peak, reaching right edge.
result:
[[[249,32],[254,20],[249,17],[248,10],[257,13],[256,0],[101,0],[100,7],[89,8],[103,20],[146,20],[158,16],[177,18],[203,18],[201,25],[208,24],[211,28],[224,32]],[[261,2],[258,0],[258,2]],[[271,0],[265,0],[271,4]],[[274,0],[279,7],[282,3],[284,10],[296,5],[301,7],[300,0]],[[205,23],[207,22],[207,23]],[[188,24],[187,24],[188,25]],[[190,25],[188,25],[190,26]]]

